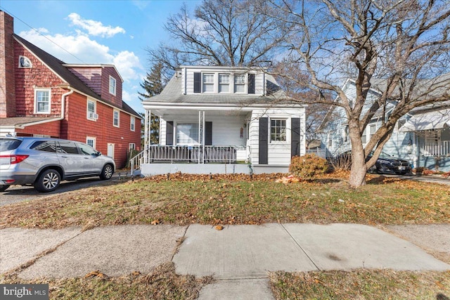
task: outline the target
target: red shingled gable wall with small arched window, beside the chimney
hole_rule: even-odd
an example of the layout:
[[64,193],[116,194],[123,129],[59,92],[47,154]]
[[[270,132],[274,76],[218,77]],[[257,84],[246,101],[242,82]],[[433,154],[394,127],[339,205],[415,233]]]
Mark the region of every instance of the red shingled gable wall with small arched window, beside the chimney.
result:
[[[42,64],[35,56],[14,41],[14,61],[19,61],[19,56],[26,56],[32,63],[31,68],[19,68],[15,66],[15,107],[18,117],[59,117],[61,114],[61,96],[64,89],[58,87],[64,84],[60,77],[56,76],[46,65]],[[34,114],[34,88],[51,89],[50,114]]]

